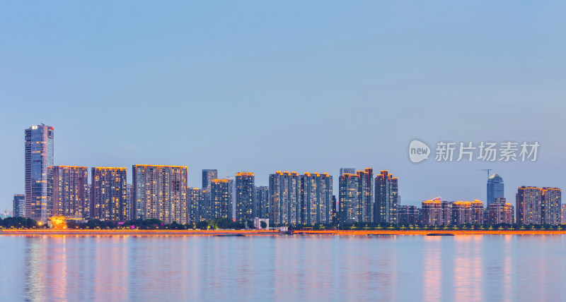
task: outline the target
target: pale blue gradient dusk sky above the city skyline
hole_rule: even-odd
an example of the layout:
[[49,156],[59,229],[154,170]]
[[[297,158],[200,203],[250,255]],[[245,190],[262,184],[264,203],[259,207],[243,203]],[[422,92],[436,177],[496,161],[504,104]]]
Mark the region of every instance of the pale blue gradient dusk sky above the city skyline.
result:
[[[485,201],[495,169],[564,188],[562,1],[5,1],[0,210],[24,191],[24,129],[55,164],[219,176],[388,169],[404,204]],[[408,143],[538,140],[537,162],[412,164]],[[90,174],[90,170],[89,170]],[[89,175],[90,178],[90,175]]]

